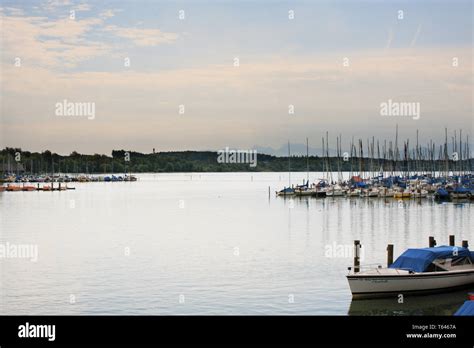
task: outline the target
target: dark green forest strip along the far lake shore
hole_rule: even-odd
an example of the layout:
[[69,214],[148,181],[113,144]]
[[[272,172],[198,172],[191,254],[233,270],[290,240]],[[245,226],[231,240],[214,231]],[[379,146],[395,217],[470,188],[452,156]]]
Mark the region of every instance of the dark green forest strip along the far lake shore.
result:
[[[1,171],[16,173],[145,173],[145,172],[285,172],[288,171],[288,157],[258,154],[257,165],[249,163],[219,163],[218,153],[211,151],[140,152],[113,150],[111,156],[84,155],[72,152],[62,156],[49,150],[39,152],[22,151],[19,148],[5,148],[0,151]],[[382,167],[386,171],[445,171],[447,166],[454,171],[471,171],[474,159],[462,161],[376,159],[364,157],[318,157],[292,156],[292,171],[373,171]]]

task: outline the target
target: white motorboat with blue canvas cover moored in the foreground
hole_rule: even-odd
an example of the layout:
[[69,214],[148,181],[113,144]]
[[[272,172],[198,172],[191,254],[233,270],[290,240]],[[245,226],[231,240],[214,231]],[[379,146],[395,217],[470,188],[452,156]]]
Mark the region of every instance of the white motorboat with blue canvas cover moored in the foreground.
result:
[[408,249],[388,268],[347,276],[352,297],[386,297],[474,285],[474,253],[462,247]]

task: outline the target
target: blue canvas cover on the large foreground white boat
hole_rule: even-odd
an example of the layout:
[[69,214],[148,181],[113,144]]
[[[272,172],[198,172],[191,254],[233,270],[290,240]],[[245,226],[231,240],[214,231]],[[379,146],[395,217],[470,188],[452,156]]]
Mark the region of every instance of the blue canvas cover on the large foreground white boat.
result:
[[389,268],[405,269],[413,272],[424,272],[436,259],[469,257],[468,248],[439,246],[435,248],[408,249],[395,260]]

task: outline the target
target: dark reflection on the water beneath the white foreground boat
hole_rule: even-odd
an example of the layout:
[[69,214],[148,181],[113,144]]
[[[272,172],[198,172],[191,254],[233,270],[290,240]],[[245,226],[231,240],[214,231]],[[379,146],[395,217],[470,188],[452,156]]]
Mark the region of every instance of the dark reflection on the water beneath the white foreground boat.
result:
[[[474,289],[474,288],[473,288]],[[444,315],[451,316],[466,300],[466,290],[403,298],[373,298],[352,301],[349,315]]]

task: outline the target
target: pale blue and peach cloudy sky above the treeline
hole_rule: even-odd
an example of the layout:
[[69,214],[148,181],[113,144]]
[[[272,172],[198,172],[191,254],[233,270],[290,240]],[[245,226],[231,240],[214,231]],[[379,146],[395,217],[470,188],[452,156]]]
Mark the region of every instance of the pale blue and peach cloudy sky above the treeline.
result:
[[[472,7],[0,0],[0,147],[318,147],[328,131],[348,149],[394,140],[396,125],[422,143],[445,127],[472,138]],[[94,104],[94,117],[58,115],[64,100]],[[381,115],[389,100],[419,103],[419,117]]]

